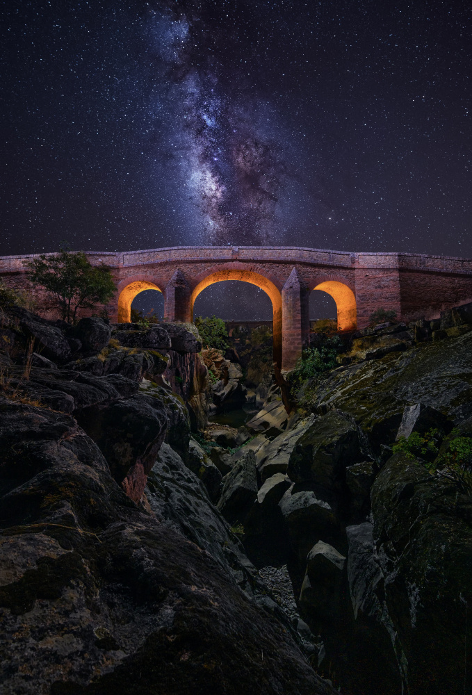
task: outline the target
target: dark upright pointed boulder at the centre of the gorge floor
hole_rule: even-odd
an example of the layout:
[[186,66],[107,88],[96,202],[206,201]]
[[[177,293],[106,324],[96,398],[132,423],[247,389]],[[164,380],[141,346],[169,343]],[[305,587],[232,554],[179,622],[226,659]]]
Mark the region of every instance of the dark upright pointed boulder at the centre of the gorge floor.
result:
[[229,523],[244,523],[257,497],[256,457],[251,450],[223,478],[218,509]]

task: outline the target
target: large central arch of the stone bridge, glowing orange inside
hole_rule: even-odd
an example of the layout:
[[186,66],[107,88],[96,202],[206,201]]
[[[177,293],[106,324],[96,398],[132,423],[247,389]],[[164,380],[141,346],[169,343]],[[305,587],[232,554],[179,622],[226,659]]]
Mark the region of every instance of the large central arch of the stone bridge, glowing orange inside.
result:
[[215,282],[223,282],[225,280],[239,280],[249,282],[256,285],[268,295],[272,302],[272,335],[274,341],[274,361],[277,366],[282,365],[282,293],[279,288],[268,277],[261,275],[254,270],[242,270],[240,268],[225,268],[224,270],[215,270],[209,273],[193,289],[190,295],[190,317],[193,320],[193,305],[198,295]]

